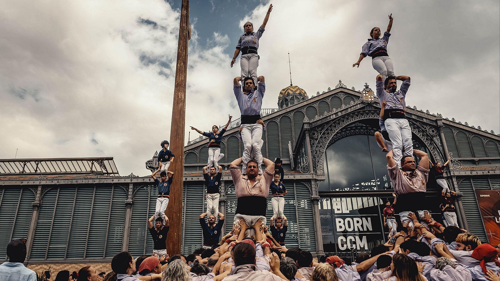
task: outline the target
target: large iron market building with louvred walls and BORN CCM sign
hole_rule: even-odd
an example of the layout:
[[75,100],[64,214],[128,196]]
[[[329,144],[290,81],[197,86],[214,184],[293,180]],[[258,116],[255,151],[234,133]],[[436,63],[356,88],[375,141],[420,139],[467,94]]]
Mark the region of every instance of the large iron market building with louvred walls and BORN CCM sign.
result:
[[[288,86],[280,91],[277,104],[278,108],[261,111],[266,127],[262,154],[283,160],[287,247],[349,257],[385,240],[381,210],[393,190],[385,153],[373,137],[379,129],[380,107],[369,86],[357,91],[339,81],[335,88],[312,96],[298,86]],[[407,107],[406,115],[415,148],[427,152],[432,162],[451,157],[444,175],[459,195],[458,223],[487,241],[493,233],[484,228],[475,190],[500,189],[500,136],[416,107]],[[228,165],[243,150],[238,128],[236,119],[221,142],[224,158],[219,164],[224,171],[219,210],[227,218],[224,231],[230,229],[236,209]],[[202,243],[198,216],[206,210],[201,168],[208,157],[207,143],[201,136],[185,146],[184,253]],[[146,161],[146,168],[157,167],[155,155]],[[4,222],[0,245],[27,237],[28,264],[97,262],[120,250],[132,255],[152,251],[146,220],[154,212],[156,187],[150,178],[119,176],[112,158],[20,160],[0,161]],[[75,161],[84,168],[74,163],[57,168]],[[43,170],[34,168],[43,165],[47,166]],[[430,176],[426,204],[436,220],[441,216],[439,195]],[[267,216],[271,215],[269,198]],[[5,247],[0,247],[0,258],[4,256]]]

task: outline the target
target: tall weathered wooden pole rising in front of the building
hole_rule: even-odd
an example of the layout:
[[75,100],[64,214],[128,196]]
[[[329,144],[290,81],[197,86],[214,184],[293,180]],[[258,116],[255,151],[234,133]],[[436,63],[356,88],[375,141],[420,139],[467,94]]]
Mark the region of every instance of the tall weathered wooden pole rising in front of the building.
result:
[[177,65],[175,67],[175,87],[173,89],[172,120],[170,124],[170,150],[175,154],[169,170],[175,174],[170,186],[167,216],[170,229],[166,239],[166,251],[172,256],[180,252],[180,230],[182,227],[182,188],[184,182],[184,127],[186,103],[187,41],[189,32],[189,0],[182,0],[180,9]]

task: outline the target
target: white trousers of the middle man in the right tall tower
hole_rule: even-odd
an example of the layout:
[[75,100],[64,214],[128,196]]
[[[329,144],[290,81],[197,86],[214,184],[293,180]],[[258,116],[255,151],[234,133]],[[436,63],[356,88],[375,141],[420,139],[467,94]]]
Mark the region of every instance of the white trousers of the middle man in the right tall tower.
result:
[[408,119],[388,118],[384,121],[384,124],[392,142],[394,153],[392,158],[401,167],[402,151],[404,150],[404,155],[413,155],[413,141],[411,140],[411,128]]

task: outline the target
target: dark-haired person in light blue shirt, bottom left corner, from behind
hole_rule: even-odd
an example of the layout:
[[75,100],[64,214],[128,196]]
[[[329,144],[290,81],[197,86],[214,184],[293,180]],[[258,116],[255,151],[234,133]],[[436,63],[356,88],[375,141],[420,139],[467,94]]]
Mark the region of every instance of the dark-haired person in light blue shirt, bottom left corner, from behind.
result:
[[36,273],[26,268],[26,239],[14,239],[7,245],[8,262],[0,264],[2,281],[37,281]]

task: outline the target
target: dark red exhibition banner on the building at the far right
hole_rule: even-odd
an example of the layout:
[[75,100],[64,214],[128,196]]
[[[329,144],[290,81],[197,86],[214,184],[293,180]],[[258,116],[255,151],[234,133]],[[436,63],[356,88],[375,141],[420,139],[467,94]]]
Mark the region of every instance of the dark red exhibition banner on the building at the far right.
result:
[[492,245],[500,243],[500,191],[475,190],[486,236]]

